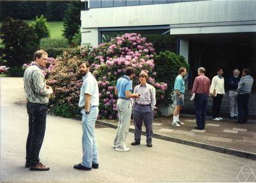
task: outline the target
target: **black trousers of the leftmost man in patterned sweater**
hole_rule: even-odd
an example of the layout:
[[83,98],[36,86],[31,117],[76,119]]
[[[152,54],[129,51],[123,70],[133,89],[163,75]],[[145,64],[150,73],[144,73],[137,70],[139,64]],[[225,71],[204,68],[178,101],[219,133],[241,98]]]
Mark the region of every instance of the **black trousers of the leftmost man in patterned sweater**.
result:
[[28,102],[27,112],[29,132],[26,144],[26,162],[36,165],[40,161],[39,152],[44,140],[47,105]]

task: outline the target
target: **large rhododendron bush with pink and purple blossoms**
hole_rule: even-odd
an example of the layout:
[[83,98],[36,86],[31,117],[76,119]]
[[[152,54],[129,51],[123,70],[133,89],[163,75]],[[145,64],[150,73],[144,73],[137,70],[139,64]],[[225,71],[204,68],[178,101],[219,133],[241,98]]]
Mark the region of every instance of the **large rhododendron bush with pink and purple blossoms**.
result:
[[45,71],[47,85],[54,90],[50,100],[51,112],[63,117],[80,115],[78,101],[83,84],[77,69],[80,61],[90,62],[90,70],[98,81],[100,119],[117,118],[115,85],[116,80],[124,75],[127,66],[136,68],[134,87],[139,84],[140,72],[145,71],[149,76],[148,83],[156,87],[157,103],[164,100],[167,84],[155,79],[157,73],[154,71],[154,53],[152,43],[147,43],[146,38],[136,33],[124,34],[96,48],[77,47],[64,52]]

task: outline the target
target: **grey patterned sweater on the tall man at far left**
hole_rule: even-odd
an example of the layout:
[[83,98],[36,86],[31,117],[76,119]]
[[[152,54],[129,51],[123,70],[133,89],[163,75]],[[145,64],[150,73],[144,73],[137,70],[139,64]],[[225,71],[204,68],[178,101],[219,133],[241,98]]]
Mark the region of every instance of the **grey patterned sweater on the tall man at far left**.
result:
[[46,89],[44,73],[38,66],[29,66],[24,73],[24,90],[26,98],[31,103],[48,103],[48,95],[51,94],[49,89]]

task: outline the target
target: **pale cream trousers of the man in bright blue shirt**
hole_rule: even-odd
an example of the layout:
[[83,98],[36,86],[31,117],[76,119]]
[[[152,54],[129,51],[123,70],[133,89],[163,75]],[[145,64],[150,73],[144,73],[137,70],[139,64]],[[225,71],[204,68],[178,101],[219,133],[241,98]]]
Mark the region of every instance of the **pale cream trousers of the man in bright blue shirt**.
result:
[[114,145],[118,148],[122,148],[124,147],[124,142],[129,132],[132,115],[132,104],[129,100],[118,98],[116,105],[119,122],[116,129]]

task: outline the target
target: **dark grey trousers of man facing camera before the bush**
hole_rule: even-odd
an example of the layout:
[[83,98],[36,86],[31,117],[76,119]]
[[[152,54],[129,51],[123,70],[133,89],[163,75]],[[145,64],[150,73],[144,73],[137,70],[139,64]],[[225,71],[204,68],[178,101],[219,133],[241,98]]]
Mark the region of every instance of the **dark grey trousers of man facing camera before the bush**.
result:
[[132,109],[132,120],[135,127],[134,140],[136,142],[140,142],[142,121],[144,122],[146,127],[147,142],[152,142],[153,119],[154,119],[154,112],[152,111],[150,105],[141,106],[141,105],[135,104],[135,106]]

